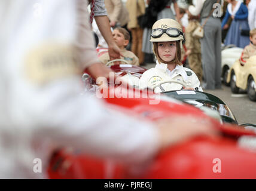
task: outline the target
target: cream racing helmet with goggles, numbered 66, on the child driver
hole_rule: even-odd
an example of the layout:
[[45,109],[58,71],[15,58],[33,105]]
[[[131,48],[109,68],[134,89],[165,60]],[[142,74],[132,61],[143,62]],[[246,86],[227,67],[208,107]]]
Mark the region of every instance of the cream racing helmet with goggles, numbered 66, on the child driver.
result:
[[184,41],[181,24],[173,19],[160,19],[153,24],[151,42]]

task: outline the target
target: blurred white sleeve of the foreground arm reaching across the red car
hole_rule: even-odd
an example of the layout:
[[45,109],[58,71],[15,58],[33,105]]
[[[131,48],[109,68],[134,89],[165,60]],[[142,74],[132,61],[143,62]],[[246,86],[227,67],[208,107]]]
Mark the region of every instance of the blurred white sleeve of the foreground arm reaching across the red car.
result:
[[[72,146],[92,155],[142,162],[159,150],[159,133],[149,122],[106,109],[102,100],[81,96],[79,79],[53,82],[33,96],[31,116],[39,119],[37,140]],[[36,113],[35,113],[36,111]],[[35,125],[38,126],[38,125]]]

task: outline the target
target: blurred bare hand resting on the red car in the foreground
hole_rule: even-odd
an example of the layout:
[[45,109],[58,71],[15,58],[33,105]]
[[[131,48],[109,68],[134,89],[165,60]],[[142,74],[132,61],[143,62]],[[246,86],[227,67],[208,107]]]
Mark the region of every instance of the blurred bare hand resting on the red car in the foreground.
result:
[[160,119],[156,125],[159,128],[161,149],[197,135],[214,137],[219,134],[209,119],[194,116],[176,115],[171,118]]

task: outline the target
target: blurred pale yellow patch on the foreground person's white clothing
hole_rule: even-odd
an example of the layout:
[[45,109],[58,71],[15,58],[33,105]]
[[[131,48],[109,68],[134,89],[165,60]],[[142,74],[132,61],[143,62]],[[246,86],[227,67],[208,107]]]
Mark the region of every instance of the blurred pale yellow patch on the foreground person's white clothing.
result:
[[52,43],[29,51],[25,57],[25,72],[36,84],[82,73],[74,47]]

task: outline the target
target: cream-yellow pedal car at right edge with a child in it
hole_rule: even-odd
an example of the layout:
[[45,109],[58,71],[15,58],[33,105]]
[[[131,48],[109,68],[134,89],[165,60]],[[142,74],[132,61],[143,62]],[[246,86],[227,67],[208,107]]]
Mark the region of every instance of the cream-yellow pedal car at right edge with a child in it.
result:
[[256,56],[250,57],[244,66],[237,60],[230,68],[227,83],[230,82],[232,93],[237,94],[239,89],[246,90],[248,97],[256,101]]

